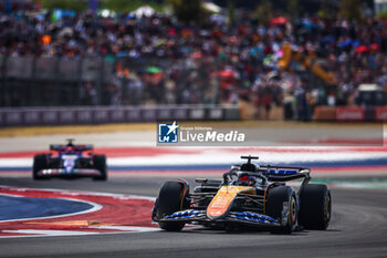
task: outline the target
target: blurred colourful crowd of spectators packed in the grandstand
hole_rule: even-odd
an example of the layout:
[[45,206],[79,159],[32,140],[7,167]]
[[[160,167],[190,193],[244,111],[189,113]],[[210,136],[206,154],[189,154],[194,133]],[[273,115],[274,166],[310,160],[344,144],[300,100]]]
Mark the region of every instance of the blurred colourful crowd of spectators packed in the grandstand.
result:
[[[301,59],[281,68],[284,43]],[[159,60],[142,70],[117,62],[106,87],[112,105],[247,101],[260,117],[273,105],[287,105],[290,118],[308,120],[315,105],[358,104],[362,83],[387,89],[386,52],[387,21],[376,18],[300,17],[262,24],[242,16],[230,25],[226,17],[212,16],[203,24],[185,25],[158,13],[0,14],[1,55]],[[300,60],[307,56],[334,74],[334,83],[303,66]],[[96,102],[92,82],[84,83],[82,94],[83,104]]]

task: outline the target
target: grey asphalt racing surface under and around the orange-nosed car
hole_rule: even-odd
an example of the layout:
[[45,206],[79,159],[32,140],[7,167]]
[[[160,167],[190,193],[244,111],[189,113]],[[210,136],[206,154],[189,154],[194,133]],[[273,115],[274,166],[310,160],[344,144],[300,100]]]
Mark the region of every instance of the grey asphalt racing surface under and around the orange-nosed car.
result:
[[[0,177],[0,185],[154,197],[166,179],[113,176],[107,182],[86,178],[33,182],[25,176]],[[0,239],[0,257],[386,257],[385,189],[334,187],[332,195],[333,217],[326,231],[281,236],[264,231],[187,228],[181,233],[3,238]]]

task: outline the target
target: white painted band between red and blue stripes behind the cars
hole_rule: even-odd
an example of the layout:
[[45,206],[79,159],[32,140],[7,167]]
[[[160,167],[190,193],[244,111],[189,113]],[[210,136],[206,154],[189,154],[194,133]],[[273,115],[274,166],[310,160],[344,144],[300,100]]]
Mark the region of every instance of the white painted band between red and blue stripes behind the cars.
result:
[[[240,151],[240,154],[245,151]],[[358,152],[351,149],[337,149],[337,152],[316,152],[308,149],[300,149],[294,152],[281,151],[259,151],[260,161],[263,163],[280,163],[286,161],[292,162],[341,162],[341,161],[358,161],[375,159],[386,157],[386,152]],[[194,154],[159,154],[157,158],[147,159],[144,164],[143,156],[135,157],[109,157],[108,166],[166,166],[166,165],[212,165],[212,164],[233,164],[240,163],[238,152],[228,149],[203,149]],[[30,167],[32,158],[11,157],[0,158],[0,167]]]

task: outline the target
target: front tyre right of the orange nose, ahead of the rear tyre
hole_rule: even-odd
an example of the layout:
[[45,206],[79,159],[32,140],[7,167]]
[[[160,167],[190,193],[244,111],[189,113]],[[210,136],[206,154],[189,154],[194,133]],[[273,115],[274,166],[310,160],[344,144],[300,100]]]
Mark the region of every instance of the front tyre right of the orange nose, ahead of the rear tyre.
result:
[[[286,204],[287,214],[284,210],[284,203]],[[292,234],[297,221],[297,203],[295,193],[290,186],[278,186],[272,188],[268,194],[265,204],[266,215],[278,219],[282,223],[286,220],[285,225],[271,229],[273,234]],[[286,217],[283,217],[286,216]]]

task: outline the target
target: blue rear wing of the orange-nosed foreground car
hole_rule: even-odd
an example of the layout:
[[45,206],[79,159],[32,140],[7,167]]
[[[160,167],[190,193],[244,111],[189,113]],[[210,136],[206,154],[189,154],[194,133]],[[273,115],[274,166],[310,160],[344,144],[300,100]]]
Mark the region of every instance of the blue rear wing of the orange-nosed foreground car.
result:
[[260,166],[259,172],[270,180],[286,182],[304,178],[303,184],[311,179],[311,168],[292,166]]

